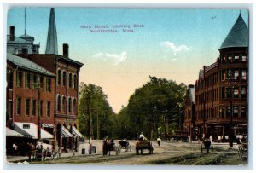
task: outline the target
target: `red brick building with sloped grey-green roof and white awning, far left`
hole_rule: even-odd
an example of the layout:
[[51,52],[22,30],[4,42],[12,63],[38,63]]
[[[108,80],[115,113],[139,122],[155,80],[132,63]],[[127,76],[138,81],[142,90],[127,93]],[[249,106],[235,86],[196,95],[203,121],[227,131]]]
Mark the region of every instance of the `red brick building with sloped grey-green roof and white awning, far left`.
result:
[[38,139],[39,125],[39,138],[54,138],[55,74],[7,54],[7,81],[7,126]]

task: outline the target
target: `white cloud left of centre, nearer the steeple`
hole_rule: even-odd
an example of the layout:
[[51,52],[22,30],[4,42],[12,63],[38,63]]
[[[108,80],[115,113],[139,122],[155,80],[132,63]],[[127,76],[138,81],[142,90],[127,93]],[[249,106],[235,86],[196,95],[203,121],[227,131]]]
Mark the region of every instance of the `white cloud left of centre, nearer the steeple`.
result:
[[118,66],[121,62],[127,59],[127,52],[123,51],[121,54],[109,54],[99,52],[96,55],[93,55],[96,59],[102,59],[103,61],[113,62],[113,66]]

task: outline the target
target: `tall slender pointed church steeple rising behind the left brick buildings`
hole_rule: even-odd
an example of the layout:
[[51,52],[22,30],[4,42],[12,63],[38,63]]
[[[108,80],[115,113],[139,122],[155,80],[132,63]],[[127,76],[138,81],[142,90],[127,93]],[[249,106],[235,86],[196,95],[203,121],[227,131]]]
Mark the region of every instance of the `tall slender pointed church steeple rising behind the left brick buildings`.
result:
[[49,14],[49,28],[48,37],[46,43],[45,54],[55,54],[58,55],[58,43],[57,43],[57,31],[55,25],[55,9],[50,9]]

